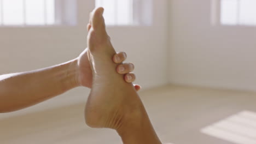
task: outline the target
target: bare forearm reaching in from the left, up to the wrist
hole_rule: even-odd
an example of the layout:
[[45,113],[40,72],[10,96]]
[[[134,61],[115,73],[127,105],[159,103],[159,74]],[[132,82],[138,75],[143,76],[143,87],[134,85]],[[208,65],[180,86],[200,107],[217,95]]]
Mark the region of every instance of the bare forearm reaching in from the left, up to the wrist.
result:
[[77,59],[45,69],[2,75],[0,112],[23,109],[77,86]]

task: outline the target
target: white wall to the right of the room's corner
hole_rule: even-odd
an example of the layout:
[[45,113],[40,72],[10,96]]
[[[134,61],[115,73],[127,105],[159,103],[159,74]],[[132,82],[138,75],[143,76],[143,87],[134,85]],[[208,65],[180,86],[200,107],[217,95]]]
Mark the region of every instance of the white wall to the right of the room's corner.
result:
[[171,83],[256,91],[256,27],[212,26],[211,0],[168,5]]

